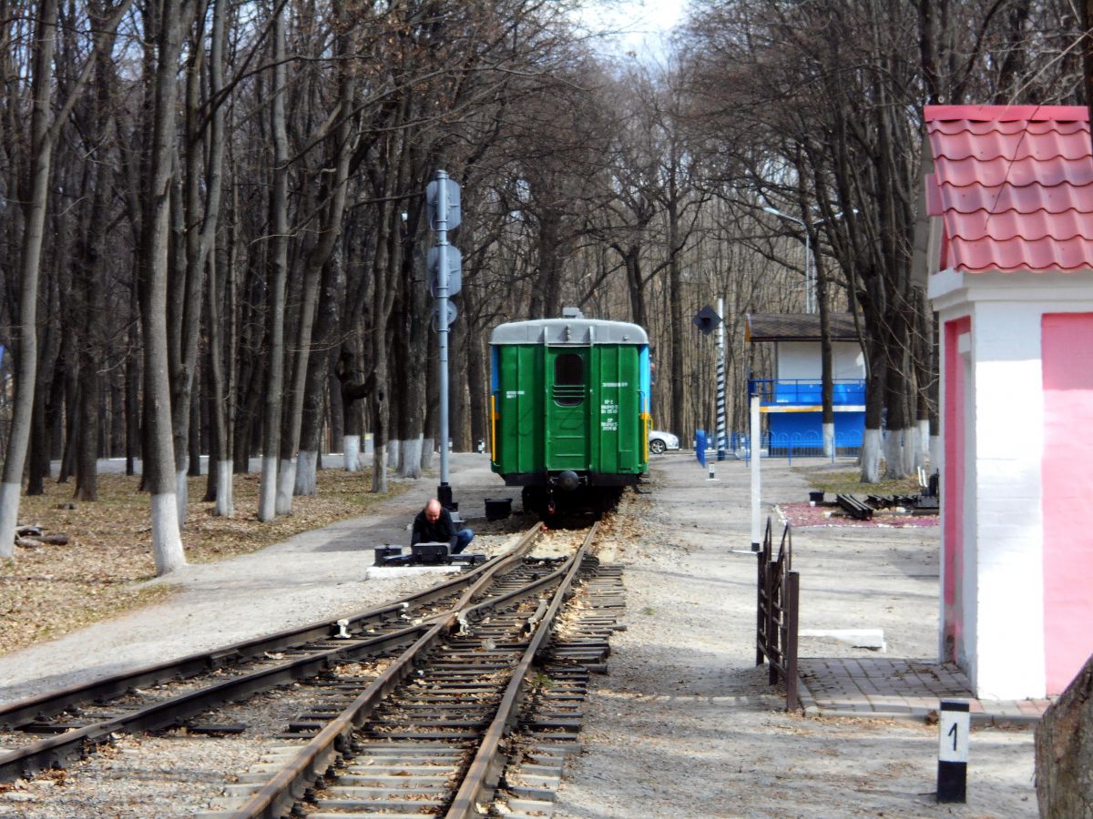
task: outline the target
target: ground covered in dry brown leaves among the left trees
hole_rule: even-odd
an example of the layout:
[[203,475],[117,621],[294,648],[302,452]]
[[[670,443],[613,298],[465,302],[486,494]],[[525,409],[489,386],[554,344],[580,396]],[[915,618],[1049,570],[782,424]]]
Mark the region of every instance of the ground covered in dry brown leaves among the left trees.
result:
[[[67,546],[15,548],[0,563],[0,654],[67,634],[120,612],[162,600],[169,586],[145,587],[154,577],[149,498],[140,478],[101,475],[98,500],[72,501],[72,485],[48,483],[46,494],[24,497],[20,523],[63,532]],[[260,522],[257,474],[236,475],[235,517],[218,518],[204,496],[207,479],[190,478],[183,543],[190,562],[243,555],[365,514],[384,496],[373,495],[371,471],[320,470],[318,494],[293,499],[293,513]],[[404,487],[392,486],[392,491]]]

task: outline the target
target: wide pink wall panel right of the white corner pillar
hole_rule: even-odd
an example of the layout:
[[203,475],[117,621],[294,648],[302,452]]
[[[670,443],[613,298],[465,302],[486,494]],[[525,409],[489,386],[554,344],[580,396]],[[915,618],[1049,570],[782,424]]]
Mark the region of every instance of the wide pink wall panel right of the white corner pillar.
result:
[[1061,693],[1093,653],[1093,313],[1045,313],[1044,663]]

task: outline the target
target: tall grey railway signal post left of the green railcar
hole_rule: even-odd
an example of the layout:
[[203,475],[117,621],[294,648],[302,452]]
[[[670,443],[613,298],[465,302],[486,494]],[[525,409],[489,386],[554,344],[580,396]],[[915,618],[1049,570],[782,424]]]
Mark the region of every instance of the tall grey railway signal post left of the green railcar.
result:
[[428,224],[436,230],[436,246],[428,251],[428,281],[436,305],[433,308],[433,328],[439,334],[439,391],[440,391],[440,485],[436,499],[446,509],[455,510],[451,485],[448,483],[448,328],[456,319],[456,307],[448,299],[459,293],[462,259],[459,249],[448,244],[448,230],[462,222],[459,206],[459,185],[443,170],[425,188]]

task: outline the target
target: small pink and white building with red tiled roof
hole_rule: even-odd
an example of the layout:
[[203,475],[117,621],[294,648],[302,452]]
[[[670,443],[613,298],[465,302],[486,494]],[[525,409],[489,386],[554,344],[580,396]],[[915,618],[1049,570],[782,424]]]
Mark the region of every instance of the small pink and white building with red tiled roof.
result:
[[941,658],[980,697],[1056,695],[1093,653],[1089,117],[929,106],[926,127]]

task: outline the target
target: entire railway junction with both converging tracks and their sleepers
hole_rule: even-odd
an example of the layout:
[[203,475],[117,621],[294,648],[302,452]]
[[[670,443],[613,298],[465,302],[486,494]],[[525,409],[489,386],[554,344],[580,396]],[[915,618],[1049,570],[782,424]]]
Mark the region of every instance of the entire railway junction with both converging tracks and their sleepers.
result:
[[[618,572],[589,554],[592,533],[578,556],[529,559],[537,532],[502,558],[342,625],[313,624],[0,710],[0,720],[22,721],[25,737],[63,732],[0,755],[0,771],[25,775],[128,743],[120,751],[132,755],[129,776],[142,778],[160,764],[142,756],[163,741],[155,737],[220,737],[208,748],[237,734],[236,744],[249,735],[260,750],[249,763],[213,769],[227,772],[227,802],[212,803],[208,816],[475,816],[495,792],[512,816],[533,805],[531,814],[549,814],[622,596]],[[566,613],[575,583],[581,603]],[[188,690],[168,685],[172,677],[186,677]],[[272,744],[252,738],[263,733],[252,702],[223,704],[256,691],[269,692],[256,700],[297,705],[265,732]],[[232,713],[238,722],[225,717]],[[141,731],[153,734],[125,739]]]

